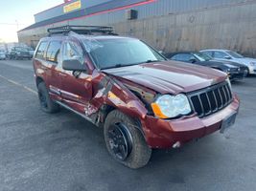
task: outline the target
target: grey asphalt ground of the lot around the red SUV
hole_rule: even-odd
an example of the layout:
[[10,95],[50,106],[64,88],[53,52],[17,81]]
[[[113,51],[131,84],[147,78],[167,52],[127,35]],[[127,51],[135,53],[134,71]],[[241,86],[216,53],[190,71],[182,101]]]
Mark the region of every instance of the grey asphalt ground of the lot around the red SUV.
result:
[[235,126],[131,170],[109,157],[103,130],[62,109],[40,111],[32,62],[0,61],[0,191],[256,190],[256,76],[233,83]]

